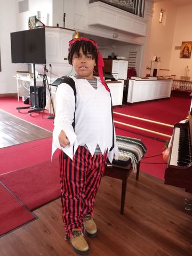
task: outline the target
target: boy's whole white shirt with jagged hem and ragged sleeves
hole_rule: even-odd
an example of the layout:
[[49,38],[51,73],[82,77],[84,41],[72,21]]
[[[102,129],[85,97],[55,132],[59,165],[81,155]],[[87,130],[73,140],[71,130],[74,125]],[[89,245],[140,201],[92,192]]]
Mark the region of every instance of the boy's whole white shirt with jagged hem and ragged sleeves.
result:
[[[111,162],[115,155],[118,157],[118,148],[115,143],[113,150],[113,121],[111,117],[110,93],[98,79],[98,88],[95,90],[86,79],[74,79],[75,95],[68,84],[60,84],[56,92],[56,114],[54,119],[52,155],[57,148],[62,149],[71,159],[78,146],[86,145],[94,154],[97,144],[102,154],[108,149],[108,158]],[[72,127],[75,111],[75,131]],[[70,146],[62,148],[59,143],[59,133],[63,130],[70,141]],[[115,136],[115,129],[114,129]]]

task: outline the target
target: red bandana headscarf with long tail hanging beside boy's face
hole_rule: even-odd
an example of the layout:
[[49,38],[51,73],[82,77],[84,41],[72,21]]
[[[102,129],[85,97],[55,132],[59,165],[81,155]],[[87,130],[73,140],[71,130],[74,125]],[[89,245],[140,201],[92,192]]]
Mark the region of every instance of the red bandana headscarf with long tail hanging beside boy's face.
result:
[[110,92],[108,86],[106,85],[104,79],[103,79],[103,67],[104,67],[104,61],[103,61],[103,58],[102,58],[102,55],[101,53],[99,52],[99,49],[98,49],[98,46],[97,44],[89,39],[89,38],[85,38],[85,37],[80,37],[80,38],[74,38],[72,39],[71,41],[69,41],[69,51],[71,49],[71,45],[74,44],[75,42],[77,41],[87,41],[87,42],[91,42],[95,48],[97,49],[97,53],[98,53],[98,73],[99,73],[99,77],[101,79],[101,83],[105,86],[106,90]]

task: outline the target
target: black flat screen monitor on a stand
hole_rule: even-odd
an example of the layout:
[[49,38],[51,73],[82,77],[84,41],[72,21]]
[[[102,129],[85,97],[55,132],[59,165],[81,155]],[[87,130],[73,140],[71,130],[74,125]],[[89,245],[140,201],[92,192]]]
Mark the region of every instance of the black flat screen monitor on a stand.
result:
[[11,33],[12,63],[46,64],[45,28]]

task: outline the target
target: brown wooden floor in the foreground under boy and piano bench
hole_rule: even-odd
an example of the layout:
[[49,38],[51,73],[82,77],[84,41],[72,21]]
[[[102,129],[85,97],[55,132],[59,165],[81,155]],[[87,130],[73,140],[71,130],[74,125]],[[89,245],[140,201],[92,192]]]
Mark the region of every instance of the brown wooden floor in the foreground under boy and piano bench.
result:
[[[94,208],[99,235],[87,238],[89,255],[192,255],[192,214],[185,211],[185,197],[192,199],[145,173],[139,181],[131,173],[121,215],[121,181],[103,177]],[[60,199],[34,213],[38,219],[0,238],[1,256],[77,255],[64,239]]]

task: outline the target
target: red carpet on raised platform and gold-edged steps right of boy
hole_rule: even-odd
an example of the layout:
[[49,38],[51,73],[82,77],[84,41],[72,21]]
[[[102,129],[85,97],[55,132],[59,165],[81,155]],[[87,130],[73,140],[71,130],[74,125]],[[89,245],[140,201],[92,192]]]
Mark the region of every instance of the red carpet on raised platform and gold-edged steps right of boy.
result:
[[[117,113],[137,116],[157,122],[174,125],[174,123],[179,123],[181,120],[187,117],[190,108],[190,102],[191,100],[188,98],[171,97],[170,99],[165,100],[140,102],[132,106],[124,105],[122,108],[115,108],[114,111]],[[173,129],[171,127],[153,124],[130,117],[124,117],[115,113],[114,120],[168,135],[172,135],[173,132]],[[115,126],[123,127],[124,129],[126,127],[121,124],[115,124]],[[143,136],[150,136],[157,139],[159,138],[165,141],[169,139],[167,137],[164,137],[163,135],[157,135],[155,133],[137,130],[128,126],[126,127],[126,130],[129,130],[130,132],[137,132]]]

